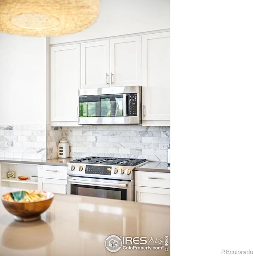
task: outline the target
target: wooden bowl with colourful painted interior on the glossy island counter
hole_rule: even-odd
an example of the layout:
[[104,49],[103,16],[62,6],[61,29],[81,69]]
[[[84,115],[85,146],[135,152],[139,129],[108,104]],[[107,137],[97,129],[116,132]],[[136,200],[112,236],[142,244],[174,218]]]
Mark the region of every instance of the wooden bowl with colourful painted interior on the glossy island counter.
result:
[[54,194],[40,190],[23,190],[2,195],[2,203],[14,220],[31,222],[40,220],[40,214],[45,212],[53,201]]

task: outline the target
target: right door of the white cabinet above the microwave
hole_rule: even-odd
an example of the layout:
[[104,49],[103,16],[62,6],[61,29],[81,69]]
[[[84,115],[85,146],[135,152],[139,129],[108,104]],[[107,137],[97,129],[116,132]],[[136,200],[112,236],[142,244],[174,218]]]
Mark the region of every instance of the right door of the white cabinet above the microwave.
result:
[[110,86],[141,85],[141,36],[110,40]]

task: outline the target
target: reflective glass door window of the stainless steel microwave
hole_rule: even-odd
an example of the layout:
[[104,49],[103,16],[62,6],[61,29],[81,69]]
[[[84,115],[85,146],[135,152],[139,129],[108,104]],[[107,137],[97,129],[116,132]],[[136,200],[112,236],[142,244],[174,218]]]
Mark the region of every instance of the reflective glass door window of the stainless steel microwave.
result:
[[79,96],[79,117],[123,117],[123,94]]

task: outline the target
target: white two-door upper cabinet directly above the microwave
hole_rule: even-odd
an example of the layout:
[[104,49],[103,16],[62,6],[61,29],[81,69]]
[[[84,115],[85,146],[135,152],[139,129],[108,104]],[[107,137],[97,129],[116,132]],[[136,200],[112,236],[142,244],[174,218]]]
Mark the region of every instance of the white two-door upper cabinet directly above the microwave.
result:
[[81,88],[141,84],[141,36],[81,44]]

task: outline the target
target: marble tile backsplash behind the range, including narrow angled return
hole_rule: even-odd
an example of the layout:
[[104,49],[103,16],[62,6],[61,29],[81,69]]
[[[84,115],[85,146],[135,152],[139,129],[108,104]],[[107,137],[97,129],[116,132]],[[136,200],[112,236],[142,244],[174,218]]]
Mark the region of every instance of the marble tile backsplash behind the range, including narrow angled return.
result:
[[70,157],[88,156],[144,158],[167,161],[169,126],[47,126],[47,159],[57,158],[57,145],[66,138],[70,143]]

